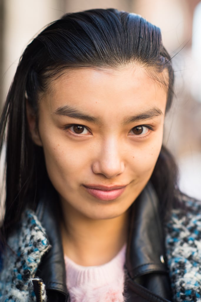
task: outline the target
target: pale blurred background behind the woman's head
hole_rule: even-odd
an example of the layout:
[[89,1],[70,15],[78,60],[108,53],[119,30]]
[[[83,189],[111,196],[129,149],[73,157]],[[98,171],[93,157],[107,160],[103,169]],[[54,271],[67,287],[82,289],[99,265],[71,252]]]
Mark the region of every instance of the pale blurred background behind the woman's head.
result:
[[0,0],[0,109],[20,55],[31,39],[66,12],[117,8],[162,30],[175,70],[175,97],[164,143],[176,158],[182,191],[201,199],[201,1]]

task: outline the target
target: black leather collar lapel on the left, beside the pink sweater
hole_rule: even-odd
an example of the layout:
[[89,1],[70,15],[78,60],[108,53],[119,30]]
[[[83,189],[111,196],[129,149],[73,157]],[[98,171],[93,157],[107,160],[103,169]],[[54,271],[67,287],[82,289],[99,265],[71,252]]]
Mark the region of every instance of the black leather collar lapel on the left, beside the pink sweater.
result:
[[[64,294],[65,301],[68,291],[66,287],[66,271],[59,229],[58,209],[59,201],[58,198],[54,198],[54,194],[53,196],[50,196],[50,194],[43,196],[39,201],[36,215],[39,221],[41,221],[42,226],[46,229],[49,243],[52,247],[44,255],[36,275],[46,284],[47,290],[57,290],[61,294]],[[55,219],[55,215],[57,219]]]

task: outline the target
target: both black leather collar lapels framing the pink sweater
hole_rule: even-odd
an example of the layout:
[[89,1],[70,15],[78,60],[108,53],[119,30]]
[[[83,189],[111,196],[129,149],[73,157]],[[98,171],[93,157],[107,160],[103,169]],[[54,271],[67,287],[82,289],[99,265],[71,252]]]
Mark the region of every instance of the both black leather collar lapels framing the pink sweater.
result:
[[[52,245],[49,252],[44,255],[37,275],[44,281],[47,289],[57,289],[68,295],[61,235],[57,222],[59,220],[55,220],[57,213],[55,205],[59,207],[58,201],[50,203],[49,197],[46,196],[39,202],[36,211]],[[158,207],[159,201],[151,184],[146,186],[131,207],[126,268],[133,280],[152,271],[167,271],[166,265],[162,263],[165,253],[164,236]]]

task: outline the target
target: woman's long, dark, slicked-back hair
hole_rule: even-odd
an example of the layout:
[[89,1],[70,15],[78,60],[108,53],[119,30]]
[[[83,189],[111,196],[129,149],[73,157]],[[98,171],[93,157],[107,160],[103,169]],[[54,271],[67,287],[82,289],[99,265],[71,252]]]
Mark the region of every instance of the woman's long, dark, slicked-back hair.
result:
[[[65,69],[85,66],[117,68],[128,63],[152,69],[156,80],[158,72],[168,72],[168,110],[174,82],[171,58],[162,45],[160,29],[139,15],[115,9],[65,14],[27,46],[0,122],[1,148],[4,141],[7,142],[6,236],[19,221],[24,207],[27,204],[36,206],[42,187],[52,187],[43,150],[30,137],[26,101],[37,116],[39,92],[45,92],[50,80],[61,75]],[[173,202],[174,172],[174,161],[162,147],[151,181],[165,211]]]

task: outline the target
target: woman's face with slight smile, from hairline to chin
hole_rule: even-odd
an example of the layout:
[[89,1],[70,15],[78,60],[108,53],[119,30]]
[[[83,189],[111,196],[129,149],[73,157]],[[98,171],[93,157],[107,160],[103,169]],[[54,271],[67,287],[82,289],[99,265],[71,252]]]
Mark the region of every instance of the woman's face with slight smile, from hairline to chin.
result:
[[166,99],[139,65],[68,70],[51,82],[38,132],[30,128],[64,210],[108,219],[130,207],[159,156]]

